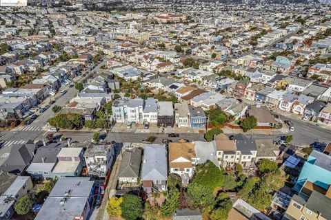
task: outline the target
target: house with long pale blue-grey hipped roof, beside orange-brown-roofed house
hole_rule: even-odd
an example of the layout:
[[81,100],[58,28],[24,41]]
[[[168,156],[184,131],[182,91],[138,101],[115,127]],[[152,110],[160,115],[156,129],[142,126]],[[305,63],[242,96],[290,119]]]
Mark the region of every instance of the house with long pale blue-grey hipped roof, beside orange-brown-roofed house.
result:
[[163,144],[146,144],[143,153],[141,181],[146,192],[167,190],[167,150]]

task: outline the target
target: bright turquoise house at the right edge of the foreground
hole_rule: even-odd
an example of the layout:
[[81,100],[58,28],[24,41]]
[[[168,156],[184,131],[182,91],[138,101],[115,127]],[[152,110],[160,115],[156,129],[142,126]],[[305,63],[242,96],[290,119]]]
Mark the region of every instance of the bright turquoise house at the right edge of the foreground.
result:
[[328,190],[331,184],[331,156],[319,151],[312,151],[303,165],[294,190],[299,192],[305,181],[310,181],[312,184]]

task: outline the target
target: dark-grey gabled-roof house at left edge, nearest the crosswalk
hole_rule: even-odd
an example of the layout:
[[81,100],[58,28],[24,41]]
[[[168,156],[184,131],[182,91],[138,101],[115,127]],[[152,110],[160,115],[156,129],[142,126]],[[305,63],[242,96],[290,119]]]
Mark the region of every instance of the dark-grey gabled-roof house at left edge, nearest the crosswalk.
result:
[[0,170],[15,175],[25,175],[36,148],[36,144],[31,140],[26,144],[3,146],[0,148]]

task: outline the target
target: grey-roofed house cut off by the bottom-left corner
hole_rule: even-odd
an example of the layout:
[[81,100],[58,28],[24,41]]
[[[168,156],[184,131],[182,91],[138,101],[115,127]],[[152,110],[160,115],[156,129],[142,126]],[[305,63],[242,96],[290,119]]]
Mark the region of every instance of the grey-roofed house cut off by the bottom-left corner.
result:
[[[1,188],[5,179],[1,179]],[[12,219],[14,215],[14,203],[32,190],[31,177],[16,177],[5,192],[0,195],[0,219]]]

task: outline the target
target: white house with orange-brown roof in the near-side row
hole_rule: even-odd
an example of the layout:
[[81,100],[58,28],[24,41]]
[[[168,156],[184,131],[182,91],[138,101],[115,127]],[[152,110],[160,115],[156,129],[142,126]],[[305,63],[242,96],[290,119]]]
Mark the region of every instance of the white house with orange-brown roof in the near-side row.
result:
[[199,164],[199,158],[195,154],[194,144],[169,144],[169,171],[179,175],[183,184],[188,184],[188,181],[193,176],[195,164]]

